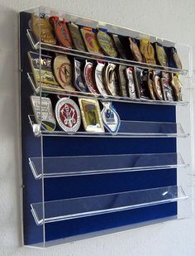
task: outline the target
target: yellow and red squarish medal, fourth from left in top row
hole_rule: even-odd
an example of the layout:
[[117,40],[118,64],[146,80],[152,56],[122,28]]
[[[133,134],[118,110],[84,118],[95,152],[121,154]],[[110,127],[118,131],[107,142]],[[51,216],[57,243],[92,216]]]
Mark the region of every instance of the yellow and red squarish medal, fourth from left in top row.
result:
[[88,31],[84,28],[81,29],[81,33],[88,51],[94,54],[102,55],[102,51],[98,45],[98,41],[96,40],[96,34],[93,31]]

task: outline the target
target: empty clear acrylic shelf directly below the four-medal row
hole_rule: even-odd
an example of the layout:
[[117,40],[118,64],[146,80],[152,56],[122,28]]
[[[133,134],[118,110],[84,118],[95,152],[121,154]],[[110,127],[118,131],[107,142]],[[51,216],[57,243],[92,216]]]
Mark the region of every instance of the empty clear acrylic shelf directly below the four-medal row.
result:
[[43,159],[30,157],[29,165],[36,179],[125,171],[158,171],[188,166],[180,153],[43,157]]

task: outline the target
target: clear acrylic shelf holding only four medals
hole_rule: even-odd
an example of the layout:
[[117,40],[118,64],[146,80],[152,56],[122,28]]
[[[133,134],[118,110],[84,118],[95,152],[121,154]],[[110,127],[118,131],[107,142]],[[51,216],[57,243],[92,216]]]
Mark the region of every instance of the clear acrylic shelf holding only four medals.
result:
[[42,136],[64,136],[64,137],[97,137],[97,138],[186,138],[189,133],[184,133],[180,123],[143,122],[121,120],[121,125],[117,133],[87,133],[64,131],[43,131],[36,123],[34,115],[28,115],[31,128],[36,137]]

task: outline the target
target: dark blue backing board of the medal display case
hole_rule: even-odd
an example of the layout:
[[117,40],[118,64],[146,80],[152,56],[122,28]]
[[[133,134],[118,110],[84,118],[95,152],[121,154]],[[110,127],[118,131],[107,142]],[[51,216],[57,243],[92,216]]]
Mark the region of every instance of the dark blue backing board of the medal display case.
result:
[[[40,138],[34,138],[27,118],[32,114],[30,95],[33,94],[26,72],[31,71],[27,51],[32,51],[26,37],[31,15],[20,14],[21,31],[21,131],[24,243],[42,241],[42,226],[37,226],[31,215],[31,203],[41,201],[41,181],[36,181],[28,164],[28,157],[40,157]],[[53,106],[56,96],[50,96]],[[74,99],[76,102],[78,99]],[[174,106],[115,103],[121,119],[140,121],[175,122]],[[43,141],[45,157],[96,154],[176,152],[175,138],[54,138]],[[57,167],[56,167],[57,168]],[[72,176],[45,179],[45,200],[59,200],[78,196],[93,196],[121,191],[134,191],[177,184],[175,169],[160,171],[135,171],[94,176]],[[177,215],[177,203],[155,205],[112,214],[96,215],[82,219],[65,220],[45,225],[46,240],[61,239],[102,229],[131,225],[145,220]]]

